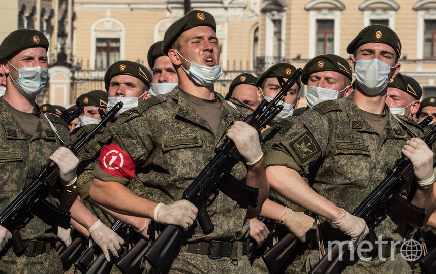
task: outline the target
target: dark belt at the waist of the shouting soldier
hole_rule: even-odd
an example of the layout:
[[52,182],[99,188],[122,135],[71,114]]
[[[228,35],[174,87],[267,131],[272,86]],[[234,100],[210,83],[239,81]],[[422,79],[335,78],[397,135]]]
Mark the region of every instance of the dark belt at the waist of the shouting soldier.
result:
[[188,244],[186,252],[207,255],[211,259],[220,259],[222,257],[230,257],[236,259],[238,256],[238,249],[242,248],[242,255],[248,254],[248,239],[244,241],[223,242],[223,241],[210,241],[210,242],[196,242]]

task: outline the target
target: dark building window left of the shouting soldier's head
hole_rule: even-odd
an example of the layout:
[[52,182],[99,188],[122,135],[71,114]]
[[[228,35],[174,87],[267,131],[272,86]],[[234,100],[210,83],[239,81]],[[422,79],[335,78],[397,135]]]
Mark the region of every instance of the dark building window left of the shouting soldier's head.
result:
[[96,68],[106,69],[120,59],[119,38],[97,38]]

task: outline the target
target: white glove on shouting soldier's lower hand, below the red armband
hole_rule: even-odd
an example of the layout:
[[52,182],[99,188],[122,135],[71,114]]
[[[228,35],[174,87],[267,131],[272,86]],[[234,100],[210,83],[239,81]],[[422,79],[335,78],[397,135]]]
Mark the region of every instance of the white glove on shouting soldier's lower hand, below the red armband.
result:
[[188,200],[180,200],[171,204],[159,203],[154,209],[154,221],[161,224],[179,225],[188,230],[197,218],[198,209]]

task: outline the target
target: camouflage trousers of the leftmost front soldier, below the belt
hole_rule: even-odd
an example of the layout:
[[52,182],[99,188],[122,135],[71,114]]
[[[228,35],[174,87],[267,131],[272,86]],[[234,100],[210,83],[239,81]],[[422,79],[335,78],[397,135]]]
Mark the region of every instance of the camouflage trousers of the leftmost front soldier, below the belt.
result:
[[63,273],[62,262],[53,248],[49,252],[28,257],[16,256],[13,248],[5,249],[0,253],[0,273]]

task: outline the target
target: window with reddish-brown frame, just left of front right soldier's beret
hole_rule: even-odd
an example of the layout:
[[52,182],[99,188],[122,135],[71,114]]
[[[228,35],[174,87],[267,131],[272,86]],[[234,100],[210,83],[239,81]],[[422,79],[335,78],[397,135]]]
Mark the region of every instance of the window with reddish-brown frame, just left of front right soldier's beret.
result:
[[317,55],[333,54],[334,20],[317,20]]

